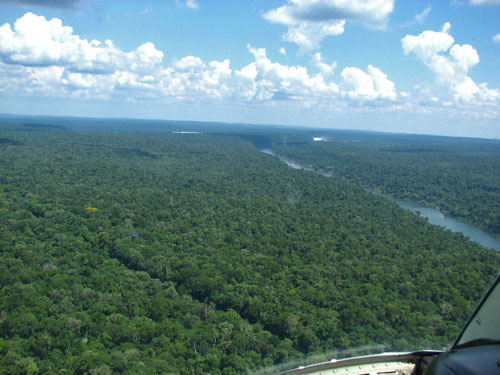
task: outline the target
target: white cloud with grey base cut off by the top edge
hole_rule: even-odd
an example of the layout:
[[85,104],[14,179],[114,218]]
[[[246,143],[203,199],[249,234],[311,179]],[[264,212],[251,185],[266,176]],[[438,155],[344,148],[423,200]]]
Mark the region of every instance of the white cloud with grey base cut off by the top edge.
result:
[[394,0],[288,0],[264,18],[288,27],[285,40],[311,50],[325,37],[342,34],[346,21],[383,29],[393,9]]

